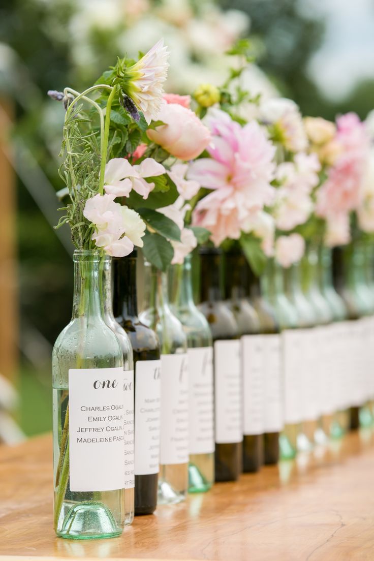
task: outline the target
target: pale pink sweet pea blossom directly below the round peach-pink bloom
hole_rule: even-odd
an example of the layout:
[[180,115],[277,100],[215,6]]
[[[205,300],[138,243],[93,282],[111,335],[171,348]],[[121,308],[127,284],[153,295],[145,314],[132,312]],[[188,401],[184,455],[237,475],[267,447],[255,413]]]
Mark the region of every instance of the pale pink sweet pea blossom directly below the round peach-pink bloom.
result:
[[114,197],[128,197],[133,189],[147,199],[155,184],[144,178],[160,176],[165,171],[164,166],[153,158],[146,158],[136,165],[131,165],[126,158],[113,158],[105,165],[104,189]]

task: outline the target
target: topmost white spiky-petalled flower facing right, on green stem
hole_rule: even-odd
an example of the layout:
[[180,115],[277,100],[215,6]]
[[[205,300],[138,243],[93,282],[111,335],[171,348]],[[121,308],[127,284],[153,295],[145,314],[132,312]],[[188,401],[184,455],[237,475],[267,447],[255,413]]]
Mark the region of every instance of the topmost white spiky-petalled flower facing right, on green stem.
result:
[[160,39],[135,65],[126,68],[124,92],[143,112],[148,125],[156,119],[163,98],[163,83],[167,79],[169,52]]

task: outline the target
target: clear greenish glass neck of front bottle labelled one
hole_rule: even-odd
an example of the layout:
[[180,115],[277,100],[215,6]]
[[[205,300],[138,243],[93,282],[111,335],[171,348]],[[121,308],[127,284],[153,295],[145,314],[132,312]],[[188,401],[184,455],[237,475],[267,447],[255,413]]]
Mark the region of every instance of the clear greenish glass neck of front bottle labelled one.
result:
[[103,316],[99,287],[99,251],[74,252],[74,295],[72,319]]

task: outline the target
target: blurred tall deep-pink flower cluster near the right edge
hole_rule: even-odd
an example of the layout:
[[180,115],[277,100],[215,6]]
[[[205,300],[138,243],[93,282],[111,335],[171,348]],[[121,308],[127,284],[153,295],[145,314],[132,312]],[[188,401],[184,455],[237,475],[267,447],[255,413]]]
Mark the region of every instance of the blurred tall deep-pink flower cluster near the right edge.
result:
[[341,151],[317,193],[317,214],[322,218],[357,209],[364,196],[362,181],[369,150],[366,129],[355,113],[339,117],[336,123]]

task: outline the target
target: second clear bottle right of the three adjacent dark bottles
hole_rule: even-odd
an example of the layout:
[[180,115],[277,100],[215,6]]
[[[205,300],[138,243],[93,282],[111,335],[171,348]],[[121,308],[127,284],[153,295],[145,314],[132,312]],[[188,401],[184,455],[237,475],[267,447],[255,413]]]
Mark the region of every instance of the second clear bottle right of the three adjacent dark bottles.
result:
[[302,360],[300,361],[300,374],[302,377],[302,407],[304,420],[299,427],[297,436],[297,447],[299,452],[310,452],[314,444],[314,436],[317,430],[317,388],[315,372],[313,372],[314,330],[317,318],[313,305],[304,296],[301,286],[301,264],[294,263],[283,269],[284,289],[288,299],[294,305],[298,315],[298,328],[302,329],[303,337],[300,340],[302,347]]

